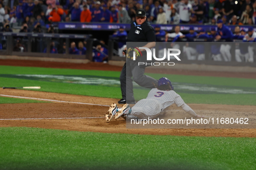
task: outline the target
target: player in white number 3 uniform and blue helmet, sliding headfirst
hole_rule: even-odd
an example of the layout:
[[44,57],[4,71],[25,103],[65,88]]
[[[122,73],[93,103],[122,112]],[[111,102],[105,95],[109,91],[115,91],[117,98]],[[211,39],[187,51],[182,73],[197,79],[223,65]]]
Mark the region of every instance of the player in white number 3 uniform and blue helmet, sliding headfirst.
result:
[[197,115],[194,110],[191,109],[180,95],[173,91],[172,83],[169,79],[162,77],[158,80],[158,85],[149,91],[148,97],[138,101],[132,108],[129,104],[124,104],[121,109],[117,109],[117,104],[111,104],[109,110],[106,113],[106,120],[118,119],[119,117],[126,117],[136,119],[155,119],[160,113],[171,106],[176,104],[177,107],[181,107],[185,112],[194,117],[204,117]]

